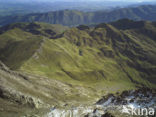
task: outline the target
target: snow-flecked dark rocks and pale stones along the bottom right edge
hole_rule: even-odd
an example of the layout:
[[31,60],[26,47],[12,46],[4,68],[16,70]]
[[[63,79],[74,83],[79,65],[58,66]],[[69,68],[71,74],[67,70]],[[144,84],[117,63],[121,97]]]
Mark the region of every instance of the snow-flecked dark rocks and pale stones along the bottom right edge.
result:
[[[147,113],[138,112],[138,109],[147,109]],[[154,113],[152,110],[154,109]],[[132,113],[132,109],[134,112]],[[156,90],[139,88],[124,91],[121,94],[108,94],[95,105],[89,107],[76,107],[72,109],[51,109],[48,117],[140,117],[140,115],[155,117]],[[151,113],[149,113],[151,111]],[[133,115],[132,115],[133,114]],[[152,114],[150,116],[149,114]]]

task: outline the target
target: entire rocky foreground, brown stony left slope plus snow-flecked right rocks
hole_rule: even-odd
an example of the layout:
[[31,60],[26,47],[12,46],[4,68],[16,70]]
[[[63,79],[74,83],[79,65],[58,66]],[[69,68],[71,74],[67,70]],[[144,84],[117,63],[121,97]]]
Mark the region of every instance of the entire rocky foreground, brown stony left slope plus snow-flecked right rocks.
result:
[[[71,87],[67,84],[11,71],[2,62],[0,74],[0,116],[2,117],[4,115],[5,117],[130,117],[131,109],[149,109],[150,107],[156,109],[155,89],[144,87],[122,93],[117,92],[103,96],[95,104],[90,103],[90,106],[82,104],[71,107],[63,102],[56,102],[52,92],[52,88],[60,86],[63,87],[62,91],[58,89],[55,93],[60,96],[61,92],[68,94]],[[36,80],[37,78],[40,80]],[[135,113],[138,114],[138,112]]]

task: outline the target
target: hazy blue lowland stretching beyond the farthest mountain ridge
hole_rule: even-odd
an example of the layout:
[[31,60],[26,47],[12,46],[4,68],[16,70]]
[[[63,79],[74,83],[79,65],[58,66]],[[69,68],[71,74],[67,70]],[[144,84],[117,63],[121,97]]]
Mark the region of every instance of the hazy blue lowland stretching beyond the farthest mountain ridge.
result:
[[[45,1],[45,0],[0,0],[0,16],[41,13],[58,10],[80,10],[80,11],[98,11],[113,10],[116,7],[127,7],[135,4],[133,2],[115,2],[115,1]],[[147,3],[153,4],[153,3]],[[136,3],[136,5],[141,5]]]

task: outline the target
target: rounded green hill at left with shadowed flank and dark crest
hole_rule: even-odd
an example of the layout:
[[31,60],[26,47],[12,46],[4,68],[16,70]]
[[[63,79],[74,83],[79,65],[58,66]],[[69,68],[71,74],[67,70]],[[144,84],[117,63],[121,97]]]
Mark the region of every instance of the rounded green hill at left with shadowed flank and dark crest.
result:
[[[15,24],[2,28],[2,43],[0,48],[3,54],[1,54],[1,59],[4,59],[10,68],[17,68],[25,60],[29,59],[42,45],[43,37],[40,35],[52,38],[59,36],[62,31],[66,30],[66,27],[62,27],[61,30],[60,25],[55,26],[55,28],[53,28],[53,26],[48,28],[48,26],[47,24],[42,24],[43,32],[40,31],[41,27],[35,24]],[[44,29],[45,27],[46,29]],[[51,28],[53,30],[51,30]],[[58,31],[58,29],[60,30]],[[3,31],[6,31],[6,33],[3,33]],[[8,56],[7,59],[5,56]],[[18,61],[18,63],[16,63],[16,61]]]

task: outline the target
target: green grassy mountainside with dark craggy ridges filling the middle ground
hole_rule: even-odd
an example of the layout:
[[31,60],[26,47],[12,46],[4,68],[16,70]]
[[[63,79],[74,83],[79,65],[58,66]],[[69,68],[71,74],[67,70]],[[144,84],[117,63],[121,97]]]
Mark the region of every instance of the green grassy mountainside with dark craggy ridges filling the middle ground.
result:
[[105,88],[155,87],[155,25],[144,22],[138,28],[121,29],[115,23],[95,28],[65,27],[55,38],[45,33],[40,23],[13,24],[14,28],[8,30],[3,27],[0,59],[13,70],[91,87],[101,93]]

